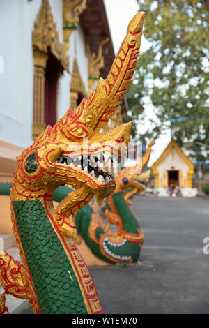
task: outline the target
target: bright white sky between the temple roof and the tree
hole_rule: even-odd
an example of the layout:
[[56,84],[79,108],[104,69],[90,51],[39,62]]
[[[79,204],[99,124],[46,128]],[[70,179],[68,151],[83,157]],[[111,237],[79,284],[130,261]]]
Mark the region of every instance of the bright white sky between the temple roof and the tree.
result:
[[[121,42],[126,35],[127,25],[129,24],[132,17],[138,12],[139,6],[136,0],[104,0],[104,5],[107,11],[107,17],[109,20],[109,27],[111,31],[111,38],[114,44],[115,53],[118,52]],[[145,16],[146,19],[146,16]],[[142,36],[140,52],[147,50],[149,47],[148,41]],[[139,52],[139,56],[140,56]],[[155,110],[150,105],[146,106],[146,116],[155,117]],[[145,126],[140,125],[138,129],[144,132],[150,124],[147,123]],[[171,132],[168,130],[164,135],[161,135],[153,145],[153,151],[150,156],[149,165],[152,165],[157,158],[162,154],[162,151],[167,147],[167,144],[171,140]]]

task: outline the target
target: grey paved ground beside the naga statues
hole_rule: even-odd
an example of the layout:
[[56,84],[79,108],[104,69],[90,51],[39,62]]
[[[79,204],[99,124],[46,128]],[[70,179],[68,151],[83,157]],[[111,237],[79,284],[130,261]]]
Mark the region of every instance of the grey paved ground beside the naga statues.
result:
[[208,200],[135,196],[132,202],[145,237],[139,262],[89,268],[104,313],[208,314]]

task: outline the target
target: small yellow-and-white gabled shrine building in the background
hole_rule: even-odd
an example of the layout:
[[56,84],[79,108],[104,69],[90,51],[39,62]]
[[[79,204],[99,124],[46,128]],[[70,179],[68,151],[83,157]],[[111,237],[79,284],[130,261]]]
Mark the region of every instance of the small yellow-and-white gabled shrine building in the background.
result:
[[192,191],[194,164],[185,156],[175,140],[171,139],[166,149],[152,166],[155,188],[166,193],[169,188],[179,188],[183,195]]

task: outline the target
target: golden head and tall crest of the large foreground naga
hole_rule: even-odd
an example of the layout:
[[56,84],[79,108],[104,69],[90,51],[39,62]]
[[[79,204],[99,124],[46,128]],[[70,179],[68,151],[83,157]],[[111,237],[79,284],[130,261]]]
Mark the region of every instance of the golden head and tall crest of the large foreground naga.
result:
[[[72,193],[75,202],[88,202],[95,195],[100,204],[115,188],[114,178],[100,170],[102,161],[119,157],[130,141],[131,123],[112,131],[98,133],[114,114],[130,84],[141,44],[144,13],[137,13],[114,59],[106,80],[102,78],[88,99],[76,110],[68,109],[53,126],[47,126],[34,144],[17,157],[15,197],[46,197],[55,188],[69,184],[80,193]],[[105,153],[105,154],[104,154]],[[105,158],[105,156],[106,158]],[[88,195],[88,197],[87,197]],[[81,207],[84,206],[82,203]],[[73,209],[72,211],[75,211]]]

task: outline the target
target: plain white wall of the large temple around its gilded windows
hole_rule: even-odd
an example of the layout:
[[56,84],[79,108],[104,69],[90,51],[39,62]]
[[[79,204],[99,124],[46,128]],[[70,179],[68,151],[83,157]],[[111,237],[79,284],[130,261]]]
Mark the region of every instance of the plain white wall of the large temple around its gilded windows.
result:
[[[49,0],[59,40],[63,42],[62,1]],[[32,31],[41,0],[0,1],[0,140],[20,147],[33,143],[33,47]],[[3,33],[2,33],[3,31]],[[70,37],[70,69],[74,59],[76,34],[77,61],[88,91],[88,59],[85,57],[81,27]],[[71,70],[72,71],[72,70]],[[70,74],[63,73],[59,83],[58,119],[70,106]],[[9,127],[9,128],[8,128]]]

